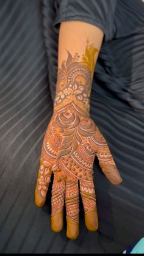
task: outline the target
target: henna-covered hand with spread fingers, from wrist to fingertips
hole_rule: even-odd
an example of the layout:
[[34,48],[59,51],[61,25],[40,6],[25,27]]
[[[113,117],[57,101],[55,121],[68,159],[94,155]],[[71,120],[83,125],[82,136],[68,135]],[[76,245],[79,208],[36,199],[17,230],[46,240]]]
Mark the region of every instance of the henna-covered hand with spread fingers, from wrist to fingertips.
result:
[[95,156],[106,177],[113,184],[119,184],[121,177],[107,142],[88,114],[74,103],[54,113],[43,141],[35,203],[38,207],[45,203],[53,173],[51,227],[54,232],[62,230],[65,202],[67,236],[71,239],[79,234],[79,186],[87,229],[98,229],[93,184]]

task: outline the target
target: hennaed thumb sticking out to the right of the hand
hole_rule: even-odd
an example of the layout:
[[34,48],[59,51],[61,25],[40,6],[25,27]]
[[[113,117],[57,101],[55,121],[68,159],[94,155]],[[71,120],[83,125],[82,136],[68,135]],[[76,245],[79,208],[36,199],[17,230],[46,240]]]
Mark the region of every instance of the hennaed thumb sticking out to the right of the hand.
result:
[[113,160],[112,154],[110,153],[107,142],[98,128],[96,129],[95,136],[92,137],[92,142],[93,144],[95,144],[96,156],[98,157],[99,166],[101,166],[104,175],[106,175],[106,177],[112,184],[120,184],[122,178],[117,170],[117,167]]

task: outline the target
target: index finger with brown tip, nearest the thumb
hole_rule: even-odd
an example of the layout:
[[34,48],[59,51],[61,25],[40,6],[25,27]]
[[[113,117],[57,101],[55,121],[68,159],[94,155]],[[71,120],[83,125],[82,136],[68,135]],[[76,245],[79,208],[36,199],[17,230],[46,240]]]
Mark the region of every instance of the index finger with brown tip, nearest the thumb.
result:
[[93,181],[81,180],[80,191],[85,211],[85,225],[88,230],[96,231],[98,229],[98,213]]

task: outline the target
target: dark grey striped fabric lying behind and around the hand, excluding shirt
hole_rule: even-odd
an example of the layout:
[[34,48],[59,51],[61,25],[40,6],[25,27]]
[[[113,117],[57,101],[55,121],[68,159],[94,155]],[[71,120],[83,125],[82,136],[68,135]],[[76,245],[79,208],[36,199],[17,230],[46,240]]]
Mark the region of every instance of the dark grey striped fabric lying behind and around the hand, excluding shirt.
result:
[[[52,114],[58,35],[54,2],[0,0],[0,251],[120,253],[143,236],[143,115],[113,106],[92,89],[91,115],[123,177],[110,185],[95,161],[98,232],[88,232],[81,207],[76,241],[50,227],[51,193],[34,203],[41,144]],[[95,78],[94,78],[95,79]]]

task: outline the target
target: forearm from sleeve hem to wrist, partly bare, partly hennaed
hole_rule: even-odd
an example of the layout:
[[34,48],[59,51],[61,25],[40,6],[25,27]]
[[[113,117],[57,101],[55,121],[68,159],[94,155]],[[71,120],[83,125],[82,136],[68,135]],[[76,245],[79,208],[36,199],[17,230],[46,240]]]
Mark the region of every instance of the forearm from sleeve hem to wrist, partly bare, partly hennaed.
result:
[[74,103],[89,111],[93,71],[103,32],[81,21],[62,23],[59,32],[59,59],[54,111]]

